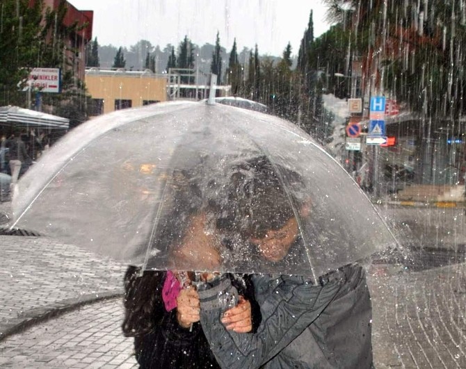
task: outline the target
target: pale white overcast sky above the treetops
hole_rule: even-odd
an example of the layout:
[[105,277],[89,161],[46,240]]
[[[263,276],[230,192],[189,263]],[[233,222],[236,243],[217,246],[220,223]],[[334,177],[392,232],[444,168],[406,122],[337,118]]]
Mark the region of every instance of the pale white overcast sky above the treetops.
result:
[[299,49],[311,9],[314,36],[329,28],[321,0],[68,0],[79,10],[94,10],[93,38],[101,45],[129,47],[148,40],[163,49],[188,35],[195,44],[220,44],[230,51],[233,39],[239,51],[280,56],[291,42]]

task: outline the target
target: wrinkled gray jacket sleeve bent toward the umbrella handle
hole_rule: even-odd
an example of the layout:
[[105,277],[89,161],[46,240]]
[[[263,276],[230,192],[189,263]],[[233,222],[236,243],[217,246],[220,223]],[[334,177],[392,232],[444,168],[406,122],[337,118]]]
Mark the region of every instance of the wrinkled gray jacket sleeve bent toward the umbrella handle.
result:
[[341,285],[330,282],[315,286],[305,277],[280,278],[280,283],[261,304],[262,322],[257,332],[237,334],[220,322],[223,304],[212,304],[213,295],[222,291],[200,292],[201,323],[211,350],[222,368],[259,368],[298,337],[328,306]]

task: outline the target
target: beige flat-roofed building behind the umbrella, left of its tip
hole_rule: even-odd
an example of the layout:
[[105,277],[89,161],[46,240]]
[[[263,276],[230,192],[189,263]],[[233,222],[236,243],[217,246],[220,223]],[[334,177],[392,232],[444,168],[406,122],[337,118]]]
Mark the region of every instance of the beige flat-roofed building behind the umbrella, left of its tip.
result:
[[86,87],[93,98],[93,115],[167,100],[168,77],[150,70],[86,69]]

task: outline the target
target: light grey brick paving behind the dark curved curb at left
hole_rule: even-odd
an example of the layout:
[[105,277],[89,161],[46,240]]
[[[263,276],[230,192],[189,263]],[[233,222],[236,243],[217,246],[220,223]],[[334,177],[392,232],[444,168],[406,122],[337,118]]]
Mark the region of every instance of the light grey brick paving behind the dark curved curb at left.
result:
[[122,293],[125,265],[44,237],[0,236],[0,340],[36,320]]

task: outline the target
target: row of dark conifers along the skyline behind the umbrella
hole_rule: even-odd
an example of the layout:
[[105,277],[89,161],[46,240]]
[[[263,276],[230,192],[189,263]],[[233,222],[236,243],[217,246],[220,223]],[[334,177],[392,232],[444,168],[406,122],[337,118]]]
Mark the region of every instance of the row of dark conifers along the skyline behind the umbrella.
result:
[[[314,39],[312,16],[311,11],[297,60],[292,58],[293,50],[289,43],[285,45],[280,57],[259,55],[257,44],[254,49],[245,47],[239,51],[236,39],[230,51],[226,52],[220,43],[220,34],[217,33],[215,44],[204,47],[193,44],[187,35],[177,47],[168,44],[163,51],[147,40],[140,40],[129,49],[113,47],[115,54],[111,67],[132,69],[139,63],[143,68],[159,73],[168,72],[169,69],[195,71],[198,67],[201,74],[216,74],[218,83],[231,85],[232,95],[266,104],[271,113],[295,122],[315,138],[325,142],[332,133],[332,127],[329,124],[331,117],[323,110],[322,94],[332,92],[337,96],[345,96],[346,89],[336,84],[332,74],[332,71],[341,71],[340,65],[344,61],[341,60],[342,54],[335,51],[330,53],[325,62],[321,61],[321,65],[316,63],[316,59],[321,58],[314,51],[320,51],[321,44],[338,41],[339,33],[332,30],[323,38]],[[106,51],[106,48],[108,47],[99,46],[97,38],[90,42],[88,67],[100,66],[99,61],[102,58],[99,58],[99,52]],[[209,50],[209,55],[206,55],[206,49]],[[127,55],[131,58],[130,63],[127,62]],[[167,56],[166,64],[161,55]],[[106,59],[109,60],[109,56]],[[208,70],[203,69],[204,65],[200,60],[209,60]],[[323,71],[322,67],[326,67],[326,70]],[[182,76],[182,83],[193,83],[195,74],[192,73],[191,76]],[[325,83],[321,81],[321,73],[326,76]]]

